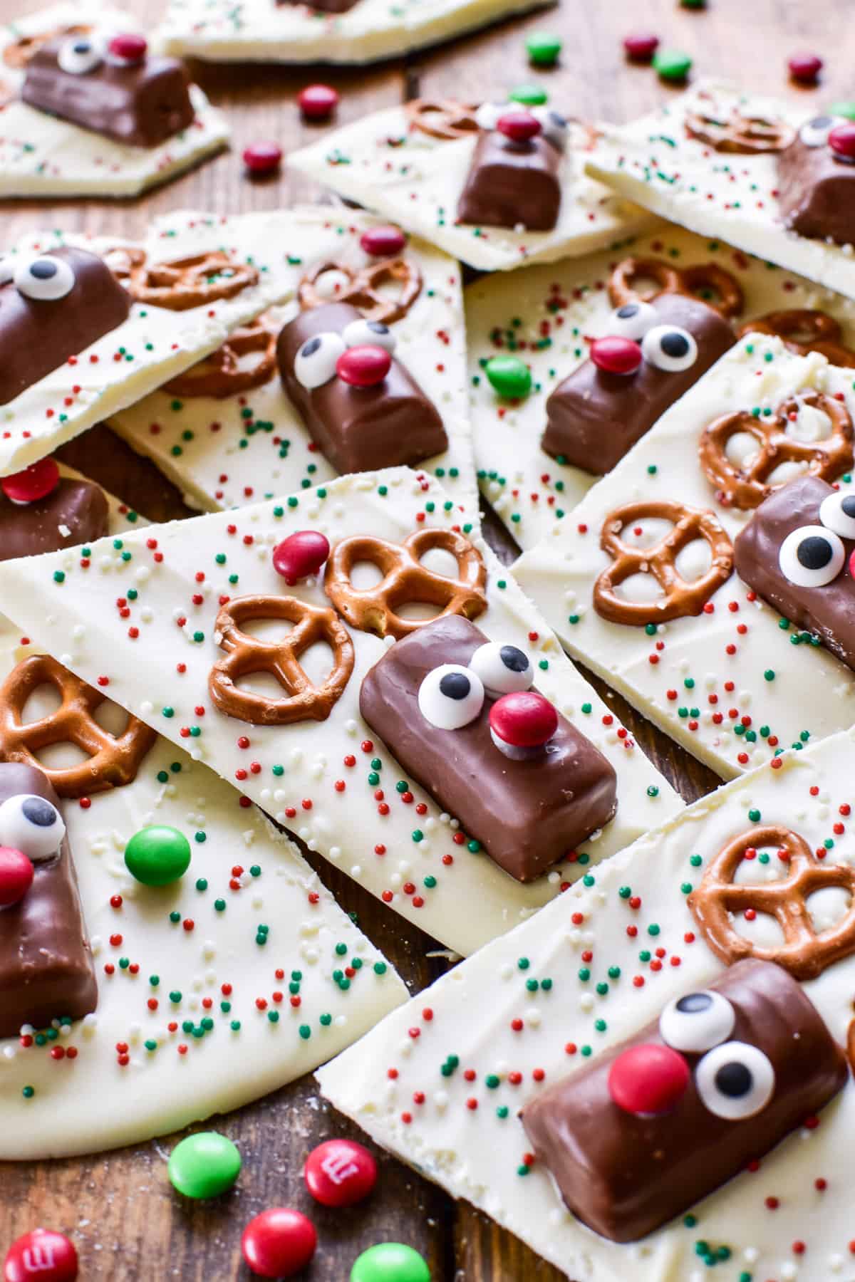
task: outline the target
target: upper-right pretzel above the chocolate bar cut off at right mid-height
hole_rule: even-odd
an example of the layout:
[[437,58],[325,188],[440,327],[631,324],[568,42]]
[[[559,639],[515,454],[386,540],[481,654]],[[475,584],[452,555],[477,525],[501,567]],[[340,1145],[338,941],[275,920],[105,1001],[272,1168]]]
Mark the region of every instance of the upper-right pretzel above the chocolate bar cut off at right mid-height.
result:
[[[831,436],[824,441],[797,441],[787,436],[788,415],[797,414],[802,405],[820,410],[831,419]],[[741,465],[731,463],[727,456],[727,444],[737,433],[752,436],[759,446],[758,453]],[[747,512],[778,488],[768,478],[782,463],[806,464],[805,474],[823,481],[833,481],[846,472],[852,465],[852,420],[842,401],[823,392],[810,392],[784,401],[767,417],[755,417],[749,410],[723,414],[704,429],[699,456],[706,479],[715,486],[719,503]]]

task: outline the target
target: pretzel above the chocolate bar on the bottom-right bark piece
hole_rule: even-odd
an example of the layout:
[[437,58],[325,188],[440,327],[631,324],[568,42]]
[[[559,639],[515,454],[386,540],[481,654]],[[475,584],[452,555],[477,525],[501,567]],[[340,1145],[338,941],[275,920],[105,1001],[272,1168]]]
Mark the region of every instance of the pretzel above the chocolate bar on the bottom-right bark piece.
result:
[[[746,851],[761,846],[777,846],[786,854],[787,876],[759,886],[737,886],[735,877]],[[849,891],[850,904],[833,926],[817,931],[808,900],[828,887]],[[688,906],[713,953],[728,965],[758,958],[777,962],[796,979],[815,979],[827,967],[855,953],[855,869],[817,859],[804,837],[782,824],[749,828],[728,842],[708,864],[700,886],[688,896]],[[774,917],[783,944],[764,947],[740,935],[732,918],[746,909]]]

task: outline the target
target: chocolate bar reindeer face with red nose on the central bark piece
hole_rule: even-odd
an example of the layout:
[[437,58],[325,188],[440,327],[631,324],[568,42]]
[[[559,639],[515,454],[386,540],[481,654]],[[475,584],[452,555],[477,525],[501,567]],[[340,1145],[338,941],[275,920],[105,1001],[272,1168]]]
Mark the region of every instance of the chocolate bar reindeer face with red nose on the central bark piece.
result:
[[[609,822],[617,778],[585,735],[527,688],[528,656],[515,646],[485,646],[483,632],[459,615],[427,623],[370,669],[359,706],[401,767],[482,842],[494,863],[528,882]],[[511,676],[502,673],[500,651],[508,651]],[[485,655],[492,656],[492,677]],[[464,697],[459,688],[445,692],[446,664],[460,669],[445,676],[454,678],[446,685],[469,686]],[[520,695],[527,703],[518,719],[508,700]],[[441,728],[449,724],[446,713],[454,724],[460,717],[469,720]],[[541,724],[549,737],[540,733]]]

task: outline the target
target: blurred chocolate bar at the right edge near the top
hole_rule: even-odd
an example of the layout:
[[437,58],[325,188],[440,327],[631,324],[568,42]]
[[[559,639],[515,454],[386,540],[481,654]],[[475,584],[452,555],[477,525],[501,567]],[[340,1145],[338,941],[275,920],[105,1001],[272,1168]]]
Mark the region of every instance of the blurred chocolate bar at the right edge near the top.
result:
[[855,244],[855,164],[796,137],[778,155],[778,204],[788,231]]

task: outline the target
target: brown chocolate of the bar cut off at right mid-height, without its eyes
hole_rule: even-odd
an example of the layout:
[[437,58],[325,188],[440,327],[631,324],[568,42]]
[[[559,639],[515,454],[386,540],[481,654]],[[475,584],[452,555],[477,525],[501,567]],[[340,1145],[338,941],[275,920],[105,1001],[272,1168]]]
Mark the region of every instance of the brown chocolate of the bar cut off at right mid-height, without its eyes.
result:
[[796,627],[815,632],[832,654],[855,669],[855,579],[849,568],[855,541],[843,538],[843,568],[824,587],[791,583],[778,563],[787,535],[801,526],[820,524],[819,505],[833,492],[819,477],[797,477],[774,490],[737,535],[733,551],[743,583]]

